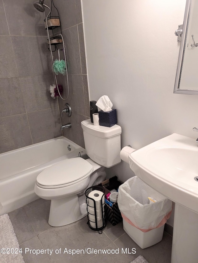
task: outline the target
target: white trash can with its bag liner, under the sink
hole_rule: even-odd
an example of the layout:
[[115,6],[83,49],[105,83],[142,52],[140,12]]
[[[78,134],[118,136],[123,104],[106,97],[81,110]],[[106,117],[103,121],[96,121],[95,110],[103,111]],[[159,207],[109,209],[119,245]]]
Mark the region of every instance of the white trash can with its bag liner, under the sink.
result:
[[148,248],[160,242],[164,224],[172,211],[172,201],[137,176],[123,183],[118,192],[118,207],[123,217],[124,231],[140,248]]

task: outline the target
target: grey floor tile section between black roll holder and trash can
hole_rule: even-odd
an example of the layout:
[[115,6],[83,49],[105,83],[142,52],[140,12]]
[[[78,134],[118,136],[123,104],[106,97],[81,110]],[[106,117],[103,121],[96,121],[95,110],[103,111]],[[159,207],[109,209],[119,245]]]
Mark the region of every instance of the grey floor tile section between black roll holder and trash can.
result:
[[123,229],[123,222],[120,222],[117,225],[113,226],[110,222],[107,221],[107,225],[103,231],[112,241],[115,241],[125,233]]

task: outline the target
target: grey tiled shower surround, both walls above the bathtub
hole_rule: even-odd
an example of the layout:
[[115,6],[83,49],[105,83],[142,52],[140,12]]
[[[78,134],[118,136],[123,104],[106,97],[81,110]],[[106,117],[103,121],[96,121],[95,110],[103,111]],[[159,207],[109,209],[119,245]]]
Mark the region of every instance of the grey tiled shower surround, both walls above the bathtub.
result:
[[[44,15],[33,2],[0,0],[0,153],[62,136],[58,101],[49,94],[54,79]],[[89,117],[89,97],[80,0],[54,3],[62,21],[70,85],[68,100],[59,98],[59,106],[61,111],[65,102],[72,107],[71,117],[64,114],[61,120],[72,124],[63,135],[84,146],[80,122]],[[65,76],[58,83],[67,89]]]

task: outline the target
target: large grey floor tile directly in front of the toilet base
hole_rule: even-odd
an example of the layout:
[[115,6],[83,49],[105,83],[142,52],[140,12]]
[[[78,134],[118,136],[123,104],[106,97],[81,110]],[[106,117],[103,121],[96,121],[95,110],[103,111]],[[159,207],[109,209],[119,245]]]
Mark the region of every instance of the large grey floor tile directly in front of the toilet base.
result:
[[[87,217],[67,226],[50,228],[38,237],[44,248],[53,249],[53,252],[55,249],[61,248],[60,254],[55,254],[54,252],[49,256],[49,260],[52,263],[87,262],[93,257],[93,254],[89,253],[89,248],[103,249],[109,244],[112,244],[105,233],[100,235],[97,231],[93,231],[88,227]],[[80,254],[75,254],[73,256],[67,252],[63,254],[65,248],[67,248],[67,250],[85,250],[85,253],[81,251]],[[88,249],[88,251],[86,249]]]

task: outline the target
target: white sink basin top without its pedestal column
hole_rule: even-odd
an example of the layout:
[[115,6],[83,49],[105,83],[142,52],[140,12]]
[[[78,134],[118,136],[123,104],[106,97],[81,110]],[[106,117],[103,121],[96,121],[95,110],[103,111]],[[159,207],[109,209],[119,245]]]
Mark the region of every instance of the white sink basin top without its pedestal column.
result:
[[152,188],[198,213],[198,145],[172,134],[129,155],[129,166]]

